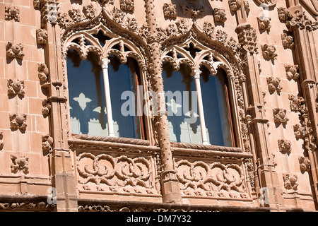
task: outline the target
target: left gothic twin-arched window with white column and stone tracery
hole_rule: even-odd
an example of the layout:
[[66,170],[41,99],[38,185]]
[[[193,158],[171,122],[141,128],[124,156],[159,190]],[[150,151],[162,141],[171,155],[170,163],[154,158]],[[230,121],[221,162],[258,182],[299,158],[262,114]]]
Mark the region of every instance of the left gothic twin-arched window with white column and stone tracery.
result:
[[71,133],[145,139],[139,62],[122,40],[92,36],[67,48]]

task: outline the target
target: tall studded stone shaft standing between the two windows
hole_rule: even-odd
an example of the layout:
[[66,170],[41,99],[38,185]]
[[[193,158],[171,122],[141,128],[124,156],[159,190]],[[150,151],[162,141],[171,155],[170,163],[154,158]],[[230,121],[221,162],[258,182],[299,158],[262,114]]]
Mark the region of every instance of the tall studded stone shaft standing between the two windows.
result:
[[149,73],[155,83],[153,89],[157,95],[157,112],[155,113],[156,129],[158,129],[158,142],[160,145],[162,171],[160,173],[161,191],[164,203],[181,203],[181,190],[175,171],[175,164],[172,156],[172,147],[167,121],[167,109],[165,107],[165,93],[163,88],[162,64],[161,64],[161,45],[158,41],[158,25],[153,11],[153,0],[145,1],[146,17],[149,26],[150,37],[148,38],[151,50],[151,66]]

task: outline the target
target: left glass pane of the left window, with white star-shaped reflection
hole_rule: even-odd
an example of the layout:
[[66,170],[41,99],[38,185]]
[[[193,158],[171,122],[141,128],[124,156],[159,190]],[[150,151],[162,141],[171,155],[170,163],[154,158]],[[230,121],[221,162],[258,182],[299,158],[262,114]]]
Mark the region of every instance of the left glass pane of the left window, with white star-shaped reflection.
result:
[[105,90],[98,56],[81,60],[76,51],[67,55],[71,133],[107,136]]

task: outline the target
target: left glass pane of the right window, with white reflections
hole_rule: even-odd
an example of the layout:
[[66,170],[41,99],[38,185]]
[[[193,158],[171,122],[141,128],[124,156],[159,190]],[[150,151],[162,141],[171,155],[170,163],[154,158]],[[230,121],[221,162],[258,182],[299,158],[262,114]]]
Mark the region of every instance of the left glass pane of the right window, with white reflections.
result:
[[[201,143],[201,126],[196,110],[196,91],[194,78],[189,66],[182,64],[179,71],[172,71],[170,64],[163,66],[169,133],[171,142]],[[175,94],[168,95],[168,92]],[[184,95],[185,93],[189,95]],[[181,97],[180,95],[181,94]],[[193,106],[193,107],[192,107]],[[192,119],[194,120],[190,120]],[[189,123],[192,122],[192,123]]]

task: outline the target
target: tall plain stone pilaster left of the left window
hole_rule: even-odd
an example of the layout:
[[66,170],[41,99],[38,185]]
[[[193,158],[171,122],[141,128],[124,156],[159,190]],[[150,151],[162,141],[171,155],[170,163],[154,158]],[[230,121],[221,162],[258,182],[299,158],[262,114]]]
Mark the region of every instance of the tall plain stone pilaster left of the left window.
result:
[[76,179],[72,170],[67,136],[69,128],[66,121],[60,29],[50,21],[42,25],[48,35],[45,44],[45,63],[49,69],[48,100],[52,105],[49,114],[50,136],[54,141],[51,154],[52,187],[57,191],[57,211],[77,211]]

